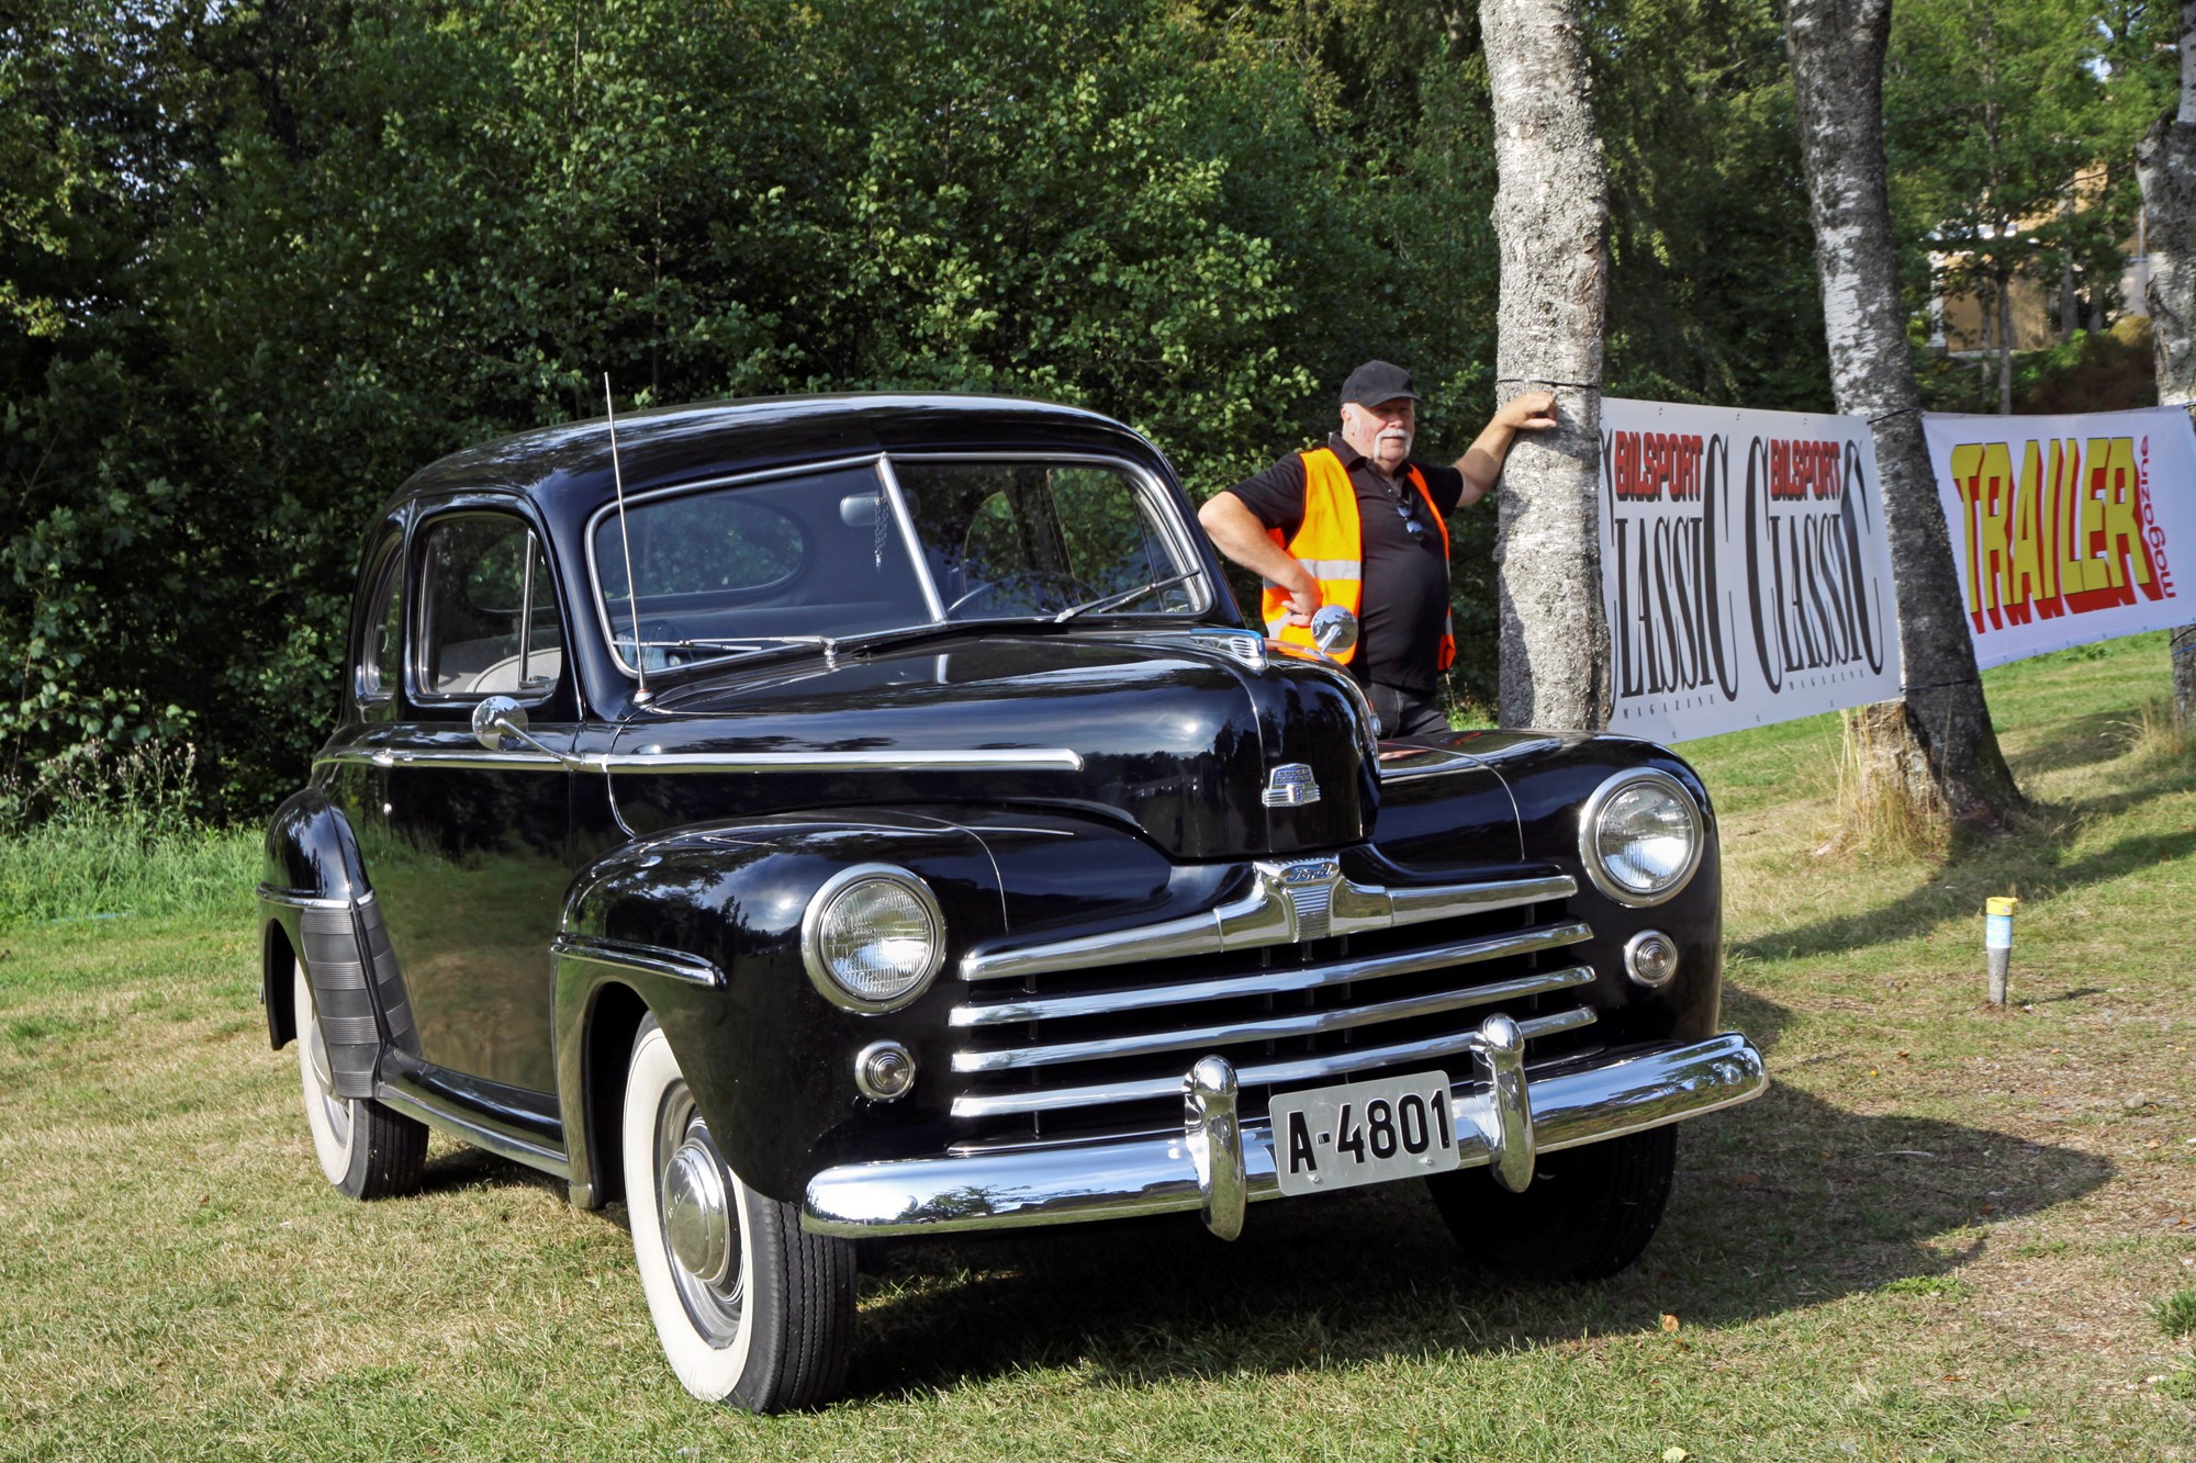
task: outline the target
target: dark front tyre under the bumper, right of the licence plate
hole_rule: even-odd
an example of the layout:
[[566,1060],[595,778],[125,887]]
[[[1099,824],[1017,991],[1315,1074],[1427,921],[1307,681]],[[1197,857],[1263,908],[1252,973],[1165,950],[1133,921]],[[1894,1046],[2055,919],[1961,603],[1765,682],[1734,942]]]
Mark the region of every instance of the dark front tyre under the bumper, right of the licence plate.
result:
[[1484,1169],[1425,1182],[1465,1263],[1504,1278],[1601,1281],[1654,1239],[1676,1171],[1678,1129],[1665,1125],[1548,1153],[1524,1193]]

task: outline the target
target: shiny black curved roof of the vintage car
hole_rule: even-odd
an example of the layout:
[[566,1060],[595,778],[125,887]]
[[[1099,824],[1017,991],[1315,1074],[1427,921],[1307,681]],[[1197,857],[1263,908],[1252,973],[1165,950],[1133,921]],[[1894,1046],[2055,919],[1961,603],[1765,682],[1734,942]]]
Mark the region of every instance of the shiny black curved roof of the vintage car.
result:
[[[1001,448],[1127,455],[1164,472],[1157,448],[1120,422],[1004,395],[771,395],[617,417],[617,468],[628,494],[802,461]],[[391,510],[406,499],[483,488],[531,496],[553,516],[593,512],[615,496],[608,420],[540,426],[450,453],[415,472]]]

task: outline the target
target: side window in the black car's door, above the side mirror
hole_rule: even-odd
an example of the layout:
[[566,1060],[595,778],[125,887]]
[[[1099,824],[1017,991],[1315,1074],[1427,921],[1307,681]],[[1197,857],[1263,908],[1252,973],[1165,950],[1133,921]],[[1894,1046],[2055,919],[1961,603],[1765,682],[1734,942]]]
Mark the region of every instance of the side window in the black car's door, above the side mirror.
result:
[[564,626],[540,540],[518,518],[441,518],[419,551],[422,696],[547,696]]

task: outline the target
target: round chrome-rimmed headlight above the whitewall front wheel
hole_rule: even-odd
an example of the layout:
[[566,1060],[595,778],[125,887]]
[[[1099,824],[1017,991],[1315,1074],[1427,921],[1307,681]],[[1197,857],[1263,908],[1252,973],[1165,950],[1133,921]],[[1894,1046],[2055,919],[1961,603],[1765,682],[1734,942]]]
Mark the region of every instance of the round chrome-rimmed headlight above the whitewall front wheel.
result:
[[802,962],[834,1006],[892,1010],[911,1002],[946,953],[946,920],[905,868],[859,863],[832,874],[802,916]]

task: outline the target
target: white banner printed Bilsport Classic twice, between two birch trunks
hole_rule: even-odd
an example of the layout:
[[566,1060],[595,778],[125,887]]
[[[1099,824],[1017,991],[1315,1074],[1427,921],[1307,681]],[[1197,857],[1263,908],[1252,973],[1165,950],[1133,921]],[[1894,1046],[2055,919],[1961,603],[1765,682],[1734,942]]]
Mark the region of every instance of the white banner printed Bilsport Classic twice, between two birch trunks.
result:
[[1601,402],[1610,732],[1676,742],[1900,694],[1860,417]]

